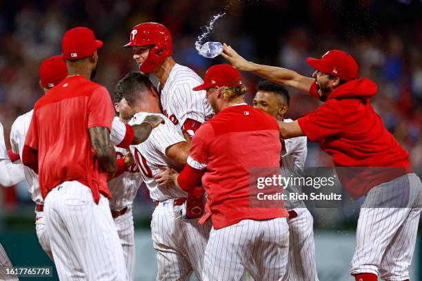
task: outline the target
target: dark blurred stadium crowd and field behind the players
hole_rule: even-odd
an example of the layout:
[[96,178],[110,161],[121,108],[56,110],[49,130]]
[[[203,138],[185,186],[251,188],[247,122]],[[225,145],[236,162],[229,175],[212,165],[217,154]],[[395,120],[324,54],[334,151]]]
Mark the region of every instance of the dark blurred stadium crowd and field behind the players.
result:
[[[166,25],[173,35],[174,59],[203,76],[210,65],[224,61],[221,56],[199,56],[194,41],[214,14],[225,12],[210,41],[228,43],[257,63],[311,75],[305,57],[319,57],[334,48],[350,52],[359,63],[360,75],[379,85],[372,105],[410,152],[412,165],[421,175],[422,1],[57,0],[0,1],[0,7],[0,122],[8,148],[14,119],[32,109],[43,94],[38,84],[41,61],[61,53],[61,37],[69,28],[87,26],[104,41],[94,81],[106,85],[112,94],[125,73],[137,70],[130,50],[121,49],[132,26],[145,21]],[[251,102],[259,78],[246,73],[243,76]],[[289,118],[319,106],[304,94],[291,89],[290,94]],[[307,165],[332,165],[318,145],[308,143],[308,149]],[[0,242],[16,266],[51,265],[35,236],[33,208],[25,183],[0,189]],[[141,187],[134,202],[137,280],[154,279],[154,251],[149,236],[153,208],[148,191]],[[350,280],[345,276],[351,258],[348,255],[354,249],[358,210],[359,202],[336,209],[312,209],[320,280]],[[420,238],[413,280],[422,280]]]

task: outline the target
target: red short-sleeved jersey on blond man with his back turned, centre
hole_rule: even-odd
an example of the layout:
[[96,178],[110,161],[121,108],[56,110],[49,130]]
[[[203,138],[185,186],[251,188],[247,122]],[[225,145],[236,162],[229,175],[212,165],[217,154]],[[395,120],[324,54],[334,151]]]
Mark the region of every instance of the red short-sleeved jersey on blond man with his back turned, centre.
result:
[[226,107],[194,134],[188,164],[194,169],[206,169],[202,184],[208,194],[214,229],[245,219],[288,216],[283,207],[250,205],[250,168],[279,169],[279,137],[275,118],[250,105]]

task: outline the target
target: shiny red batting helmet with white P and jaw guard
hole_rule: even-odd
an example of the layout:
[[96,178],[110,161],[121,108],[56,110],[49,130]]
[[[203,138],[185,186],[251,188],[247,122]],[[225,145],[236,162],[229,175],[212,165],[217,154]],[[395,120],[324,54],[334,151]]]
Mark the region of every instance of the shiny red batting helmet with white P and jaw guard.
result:
[[130,32],[130,42],[122,48],[132,46],[154,45],[150,49],[148,58],[139,70],[144,73],[153,72],[164,59],[172,55],[172,34],[160,23],[141,23]]

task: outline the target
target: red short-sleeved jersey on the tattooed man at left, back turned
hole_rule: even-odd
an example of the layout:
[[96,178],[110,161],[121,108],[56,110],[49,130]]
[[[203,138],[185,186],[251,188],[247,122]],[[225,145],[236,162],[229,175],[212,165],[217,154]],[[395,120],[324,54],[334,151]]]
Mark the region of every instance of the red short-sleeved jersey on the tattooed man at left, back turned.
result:
[[107,173],[101,170],[88,129],[108,127],[114,118],[105,87],[80,75],[70,76],[37,101],[25,145],[37,149],[41,194],[77,180],[110,198]]

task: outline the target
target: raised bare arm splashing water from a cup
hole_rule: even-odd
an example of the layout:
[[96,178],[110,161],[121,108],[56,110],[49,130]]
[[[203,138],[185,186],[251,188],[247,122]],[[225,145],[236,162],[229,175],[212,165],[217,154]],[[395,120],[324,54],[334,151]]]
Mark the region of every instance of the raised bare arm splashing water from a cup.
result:
[[258,76],[261,76],[265,79],[273,81],[274,83],[279,83],[288,87],[294,87],[295,89],[309,93],[314,79],[310,77],[303,76],[294,72],[293,70],[288,70],[283,67],[275,67],[270,65],[260,65],[257,63],[252,63],[252,61],[246,61],[242,56],[237,54],[232,47],[223,45],[223,52],[221,53],[225,59],[227,59],[234,67],[239,70],[252,72]]

